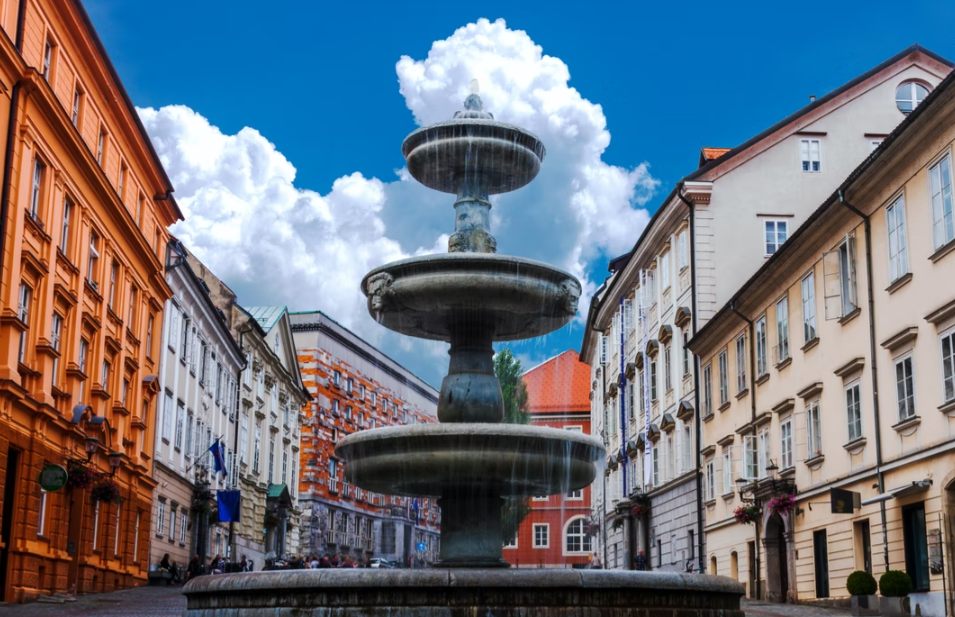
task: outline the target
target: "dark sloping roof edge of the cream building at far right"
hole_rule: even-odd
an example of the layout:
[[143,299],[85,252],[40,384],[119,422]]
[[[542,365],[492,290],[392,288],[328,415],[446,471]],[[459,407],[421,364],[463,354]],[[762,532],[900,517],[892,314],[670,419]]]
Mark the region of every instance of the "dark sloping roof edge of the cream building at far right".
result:
[[[784,259],[787,259],[790,254],[799,250],[804,236],[810,233],[810,230],[820,224],[819,218],[825,214],[830,208],[841,205],[842,197],[846,194],[849,188],[859,179],[862,174],[869,169],[874,163],[881,160],[883,156],[886,156],[884,153],[886,150],[891,150],[892,145],[899,139],[899,137],[909,130],[913,123],[918,122],[919,118],[928,114],[935,105],[935,102],[942,99],[946,95],[946,92],[952,88],[952,84],[955,83],[955,71],[949,73],[945,79],[943,79],[934,90],[932,90],[925,100],[915,108],[912,113],[905,117],[905,119],[897,126],[895,129],[886,137],[878,148],[872,151],[872,153],[866,157],[862,163],[856,167],[852,173],[850,173],[845,180],[836,188],[833,193],[826,198],[822,204],[813,211],[812,214],[800,225],[793,233],[789,236],[785,243],[780,247],[778,251],[773,253],[772,257],[766,260],[766,262],[760,266],[758,270],[745,282],[739,289],[736,290],[736,293],[729,299],[729,301],[723,305],[723,307],[713,315],[712,318],[696,333],[692,340],[690,340],[690,348],[697,352],[697,343],[704,340],[712,332],[717,331],[719,323],[727,316],[727,314],[733,313],[734,309],[739,306],[741,300],[751,296],[749,293],[750,288],[755,285],[761,278],[773,277],[775,276],[775,270],[779,267],[779,264]],[[951,96],[955,96],[953,93]],[[846,200],[848,201],[848,200]]]

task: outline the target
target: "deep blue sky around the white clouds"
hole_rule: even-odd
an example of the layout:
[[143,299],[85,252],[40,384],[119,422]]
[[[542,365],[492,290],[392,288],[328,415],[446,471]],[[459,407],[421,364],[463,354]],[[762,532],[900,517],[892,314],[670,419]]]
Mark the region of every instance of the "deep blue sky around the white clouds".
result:
[[[606,117],[611,141],[602,161],[624,170],[646,163],[659,181],[655,189],[637,181],[642,188],[633,207],[649,212],[695,168],[701,146],[737,145],[806,104],[809,95],[825,94],[912,43],[955,58],[951,1],[166,0],[159,10],[144,2],[87,0],[86,6],[137,106],[184,105],[224,135],[252,127],[294,166],[296,187],[322,195],[355,172],[395,180],[395,170],[403,166],[401,141],[416,127],[399,91],[396,63],[403,55],[424,60],[435,41],[482,17],[503,18],[508,29],[525,31],[545,55],[566,64],[569,86]],[[421,109],[415,113],[430,121]],[[519,197],[515,193],[515,201],[507,203]],[[437,199],[446,210],[435,225],[447,231],[451,200]],[[380,218],[396,230],[389,238],[403,253],[431,245],[433,238],[403,231],[404,222],[414,220],[407,204],[396,211],[393,196],[384,203]],[[508,213],[518,220],[515,210],[502,206],[502,212],[505,227]],[[634,224],[629,230],[630,244],[641,229]],[[547,247],[525,251],[517,238],[517,229],[499,237],[499,250],[559,261]],[[594,245],[582,261],[590,281],[603,280],[607,258],[617,252],[611,249],[623,244]],[[237,288],[241,295],[243,285]],[[346,324],[359,319],[329,312]],[[370,332],[352,326],[366,336]],[[525,362],[535,362],[578,348],[580,338],[577,325],[518,345],[517,351]],[[419,348],[393,339],[381,344],[437,385],[440,362],[425,362]]]

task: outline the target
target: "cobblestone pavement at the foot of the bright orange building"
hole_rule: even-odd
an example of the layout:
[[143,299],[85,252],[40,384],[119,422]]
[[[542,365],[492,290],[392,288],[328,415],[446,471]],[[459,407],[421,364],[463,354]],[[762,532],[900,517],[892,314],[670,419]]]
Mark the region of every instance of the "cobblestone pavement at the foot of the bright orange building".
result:
[[182,587],[135,587],[78,596],[76,602],[0,604],[0,617],[180,617],[186,608]]

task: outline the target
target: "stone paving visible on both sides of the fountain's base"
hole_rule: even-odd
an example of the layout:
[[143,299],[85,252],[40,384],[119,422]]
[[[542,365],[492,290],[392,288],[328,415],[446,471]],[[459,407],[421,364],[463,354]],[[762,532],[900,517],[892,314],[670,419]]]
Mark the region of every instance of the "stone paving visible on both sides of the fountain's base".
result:
[[[181,587],[137,587],[112,593],[80,596],[64,604],[0,604],[0,617],[179,617],[186,608]],[[844,617],[848,610],[815,606],[770,604],[743,600],[752,617]]]

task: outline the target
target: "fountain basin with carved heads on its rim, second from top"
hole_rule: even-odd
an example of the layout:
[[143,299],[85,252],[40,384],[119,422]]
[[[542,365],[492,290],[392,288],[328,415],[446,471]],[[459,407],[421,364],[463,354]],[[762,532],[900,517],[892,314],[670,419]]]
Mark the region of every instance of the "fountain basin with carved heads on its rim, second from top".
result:
[[390,330],[450,341],[487,331],[491,341],[533,338],[577,312],[580,283],[548,264],[495,253],[413,257],[375,268],[361,282],[368,312]]

